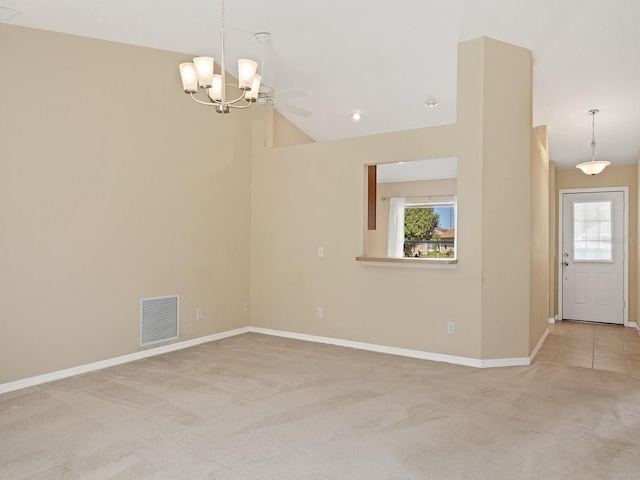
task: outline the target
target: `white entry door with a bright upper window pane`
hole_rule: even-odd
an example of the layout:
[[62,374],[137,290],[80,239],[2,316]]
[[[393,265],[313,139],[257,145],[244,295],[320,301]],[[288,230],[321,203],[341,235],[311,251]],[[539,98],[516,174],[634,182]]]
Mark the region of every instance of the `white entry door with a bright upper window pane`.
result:
[[624,193],[562,195],[562,317],[624,323]]

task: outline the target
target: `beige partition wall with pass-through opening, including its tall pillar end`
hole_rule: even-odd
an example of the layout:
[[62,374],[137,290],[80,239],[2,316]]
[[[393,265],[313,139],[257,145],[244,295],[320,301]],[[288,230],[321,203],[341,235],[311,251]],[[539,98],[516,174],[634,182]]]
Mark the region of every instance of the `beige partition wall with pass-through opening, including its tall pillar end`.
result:
[[[528,356],[538,341],[529,338],[531,131],[529,52],[480,38],[458,48],[455,125],[257,151],[251,324],[472,358]],[[457,267],[356,262],[364,166],[439,157],[458,158]],[[516,241],[492,250],[504,232]]]

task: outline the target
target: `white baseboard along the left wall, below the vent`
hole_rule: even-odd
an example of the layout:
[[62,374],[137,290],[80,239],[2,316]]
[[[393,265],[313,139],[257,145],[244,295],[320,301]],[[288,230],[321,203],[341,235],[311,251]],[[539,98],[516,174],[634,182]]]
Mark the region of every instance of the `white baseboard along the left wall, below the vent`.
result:
[[101,360],[99,362],[88,363],[86,365],[80,365],[64,370],[58,370],[57,372],[45,373],[44,375],[24,378],[22,380],[16,380],[15,382],[3,383],[0,384],[0,394],[13,392],[14,390],[20,390],[22,388],[33,387],[34,385],[40,385],[42,383],[52,382],[54,380],[61,380],[73,375],[80,375],[82,373],[102,370],[103,368],[114,367],[116,365],[133,362],[135,360],[141,360],[143,358],[153,357],[155,355],[162,355],[163,353],[175,352],[176,350],[195,347],[196,345],[200,345],[202,343],[215,342],[216,340],[222,340],[223,338],[233,337],[235,335],[240,335],[249,331],[250,327],[238,328],[226,332],[215,333],[213,335],[207,335],[206,337],[194,338],[193,340],[186,340],[184,342],[177,342],[170,345],[150,348],[148,350],[141,350],[139,352],[130,353],[128,355]]

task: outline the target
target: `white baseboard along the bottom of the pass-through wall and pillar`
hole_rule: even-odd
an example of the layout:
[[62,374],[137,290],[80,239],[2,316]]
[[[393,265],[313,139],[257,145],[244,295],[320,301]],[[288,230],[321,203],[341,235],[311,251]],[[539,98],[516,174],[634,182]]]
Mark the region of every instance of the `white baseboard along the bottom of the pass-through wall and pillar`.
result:
[[464,365],[466,367],[493,368],[493,367],[516,367],[516,366],[530,365],[530,360],[527,357],[496,358],[496,359],[480,360],[477,358],[458,357],[455,355],[445,355],[442,353],[424,352],[422,350],[410,350],[406,348],[387,347],[385,345],[377,345],[373,343],[353,342],[351,340],[342,340],[342,339],[331,338],[331,337],[320,337],[317,335],[307,335],[305,333],[286,332],[282,330],[272,330],[269,328],[260,328],[260,327],[249,327],[249,328],[250,328],[250,331],[254,333],[261,333],[264,335],[292,338],[295,340],[304,340],[307,342],[326,343],[329,345],[355,348],[358,350],[367,350],[370,352],[387,353],[390,355],[419,358],[422,360],[432,360],[434,362],[453,363],[455,365]]

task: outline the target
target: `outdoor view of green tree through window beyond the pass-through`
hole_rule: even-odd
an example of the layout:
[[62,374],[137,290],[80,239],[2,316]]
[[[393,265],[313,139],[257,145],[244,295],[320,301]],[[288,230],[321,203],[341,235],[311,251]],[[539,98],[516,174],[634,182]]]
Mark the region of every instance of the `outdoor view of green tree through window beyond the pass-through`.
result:
[[404,256],[455,258],[455,208],[405,207]]

